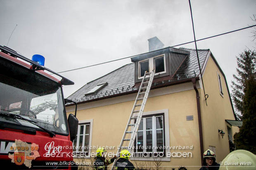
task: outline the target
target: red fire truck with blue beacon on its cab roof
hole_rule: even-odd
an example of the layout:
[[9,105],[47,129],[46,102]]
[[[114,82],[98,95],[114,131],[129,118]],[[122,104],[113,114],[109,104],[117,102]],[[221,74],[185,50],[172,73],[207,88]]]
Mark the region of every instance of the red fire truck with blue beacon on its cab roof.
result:
[[65,102],[72,101],[64,100],[62,91],[63,85],[74,83],[45,68],[43,56],[33,57],[0,46],[1,167],[77,169],[72,141],[78,119],[76,112],[67,119]]

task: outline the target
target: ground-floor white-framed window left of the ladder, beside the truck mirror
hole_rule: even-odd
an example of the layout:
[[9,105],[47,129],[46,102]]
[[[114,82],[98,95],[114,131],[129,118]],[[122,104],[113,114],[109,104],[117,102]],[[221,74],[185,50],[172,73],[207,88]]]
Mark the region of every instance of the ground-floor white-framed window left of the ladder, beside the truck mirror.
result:
[[73,140],[73,152],[76,155],[83,153],[85,158],[90,158],[92,144],[92,119],[78,122],[76,138]]

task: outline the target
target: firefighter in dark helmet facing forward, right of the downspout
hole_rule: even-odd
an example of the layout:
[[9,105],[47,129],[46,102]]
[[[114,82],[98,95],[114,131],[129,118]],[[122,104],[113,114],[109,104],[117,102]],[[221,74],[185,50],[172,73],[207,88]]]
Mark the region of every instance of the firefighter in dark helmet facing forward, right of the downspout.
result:
[[216,163],[216,155],[213,151],[208,149],[204,152],[204,163],[203,167],[200,170],[218,170],[220,168],[220,164]]

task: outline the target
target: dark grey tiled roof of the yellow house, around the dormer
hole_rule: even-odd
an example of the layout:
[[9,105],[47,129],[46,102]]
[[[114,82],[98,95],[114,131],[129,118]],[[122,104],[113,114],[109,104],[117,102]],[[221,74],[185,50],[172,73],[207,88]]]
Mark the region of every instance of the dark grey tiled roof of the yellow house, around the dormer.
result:
[[[180,68],[173,75],[173,78],[164,82],[156,82],[153,83],[152,86],[157,86],[159,84],[169,83],[169,82],[177,82],[184,79],[190,79],[193,77],[197,77],[200,73],[199,66],[197,62],[197,53],[195,49],[186,49],[181,48],[183,50],[189,51],[190,56],[187,56],[185,61],[180,65]],[[207,54],[210,52],[209,49],[199,49],[199,61],[200,66],[202,68]],[[75,102],[89,102],[90,100],[101,99],[101,98],[110,98],[113,95],[117,94],[125,94],[127,92],[133,92],[138,90],[138,87],[134,87],[134,77],[135,76],[135,64],[130,63],[124,65],[121,68],[118,68],[107,75],[104,75],[98,79],[95,79],[92,82],[85,84],[83,87],[78,89],[75,93],[70,95],[68,99],[71,99]],[[102,88],[100,91],[94,94],[85,95],[88,91],[99,84],[108,83],[107,86]]]

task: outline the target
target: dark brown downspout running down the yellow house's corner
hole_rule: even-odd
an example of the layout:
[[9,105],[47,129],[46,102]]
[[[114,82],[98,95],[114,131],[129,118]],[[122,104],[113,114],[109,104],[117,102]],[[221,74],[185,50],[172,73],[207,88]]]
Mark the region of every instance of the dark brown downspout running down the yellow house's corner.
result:
[[201,164],[203,165],[203,154],[204,154],[204,142],[203,142],[203,131],[202,131],[202,121],[201,121],[201,109],[200,109],[200,100],[199,93],[197,90],[197,80],[192,79],[194,90],[197,95],[197,116],[198,116],[198,126],[199,126],[199,140],[200,140],[200,151],[201,151]]

